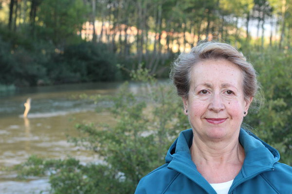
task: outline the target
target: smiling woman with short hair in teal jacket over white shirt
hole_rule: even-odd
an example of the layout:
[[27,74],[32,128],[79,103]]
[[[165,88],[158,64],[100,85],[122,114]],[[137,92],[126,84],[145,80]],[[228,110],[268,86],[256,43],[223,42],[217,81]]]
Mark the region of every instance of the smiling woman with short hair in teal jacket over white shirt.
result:
[[258,89],[241,52],[202,43],[179,56],[171,76],[192,129],[180,133],[166,163],[142,178],[135,194],[292,194],[292,167],[240,128]]

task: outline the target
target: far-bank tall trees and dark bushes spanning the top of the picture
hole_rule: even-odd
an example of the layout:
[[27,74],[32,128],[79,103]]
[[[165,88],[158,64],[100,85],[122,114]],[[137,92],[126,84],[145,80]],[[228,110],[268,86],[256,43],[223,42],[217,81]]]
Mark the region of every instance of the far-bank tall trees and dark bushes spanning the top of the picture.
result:
[[[291,0],[0,0],[0,83],[112,81],[146,67],[167,76],[200,40],[291,46]],[[256,23],[256,36],[251,36]],[[269,30],[267,35],[266,29]]]

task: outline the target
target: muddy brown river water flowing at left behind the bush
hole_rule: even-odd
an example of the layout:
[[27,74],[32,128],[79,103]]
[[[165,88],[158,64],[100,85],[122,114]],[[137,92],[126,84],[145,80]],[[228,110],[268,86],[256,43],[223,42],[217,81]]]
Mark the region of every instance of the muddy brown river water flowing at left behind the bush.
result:
[[[20,181],[6,167],[25,162],[31,155],[81,162],[100,162],[92,152],[67,143],[66,135],[76,135],[74,125],[81,122],[112,122],[109,113],[97,113],[92,101],[76,98],[80,94],[112,95],[121,83],[86,83],[21,88],[0,94],[0,193],[33,194],[49,188],[48,178]],[[24,102],[30,97],[31,110],[23,118]]]

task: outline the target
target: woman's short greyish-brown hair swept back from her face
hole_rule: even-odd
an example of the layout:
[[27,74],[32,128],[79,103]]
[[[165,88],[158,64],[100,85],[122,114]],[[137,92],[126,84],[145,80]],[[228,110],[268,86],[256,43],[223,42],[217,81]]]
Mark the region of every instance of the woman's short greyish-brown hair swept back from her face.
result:
[[259,88],[256,70],[236,48],[226,43],[203,42],[190,52],[181,53],[174,61],[170,78],[177,88],[178,95],[186,98],[190,87],[190,73],[198,62],[212,59],[225,59],[237,65],[243,74],[243,94],[245,98],[254,97]]

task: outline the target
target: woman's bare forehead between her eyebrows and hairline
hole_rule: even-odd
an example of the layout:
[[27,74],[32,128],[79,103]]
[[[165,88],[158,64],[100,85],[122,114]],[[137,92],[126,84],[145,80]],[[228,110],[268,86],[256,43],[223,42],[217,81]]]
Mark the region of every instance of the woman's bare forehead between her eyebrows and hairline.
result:
[[205,60],[194,65],[190,72],[190,84],[233,84],[237,87],[242,83],[241,69],[225,59]]

